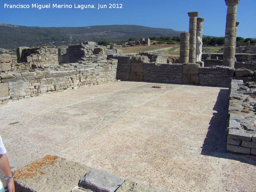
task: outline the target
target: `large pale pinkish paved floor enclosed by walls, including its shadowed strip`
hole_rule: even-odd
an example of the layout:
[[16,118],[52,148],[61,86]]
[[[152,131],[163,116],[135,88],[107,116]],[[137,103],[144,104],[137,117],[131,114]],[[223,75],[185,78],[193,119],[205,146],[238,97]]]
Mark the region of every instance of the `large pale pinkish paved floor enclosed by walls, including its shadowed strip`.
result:
[[228,93],[146,82],[90,86],[0,106],[0,133],[13,169],[49,154],[158,191],[255,192],[256,162],[225,149]]

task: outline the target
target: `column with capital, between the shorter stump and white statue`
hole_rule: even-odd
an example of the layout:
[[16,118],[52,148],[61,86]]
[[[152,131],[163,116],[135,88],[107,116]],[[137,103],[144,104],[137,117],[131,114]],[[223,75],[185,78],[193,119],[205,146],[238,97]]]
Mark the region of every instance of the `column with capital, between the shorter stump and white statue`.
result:
[[189,63],[196,63],[196,17],[198,12],[188,12],[189,16]]

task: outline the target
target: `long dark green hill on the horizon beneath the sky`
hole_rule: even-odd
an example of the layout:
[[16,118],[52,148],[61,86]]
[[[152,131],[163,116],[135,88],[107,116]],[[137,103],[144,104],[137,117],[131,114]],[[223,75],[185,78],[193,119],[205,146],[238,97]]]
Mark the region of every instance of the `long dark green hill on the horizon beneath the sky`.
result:
[[100,25],[90,27],[27,27],[0,23],[0,48],[16,49],[19,46],[68,45],[83,41],[107,40],[111,42],[150,36],[180,36],[184,31],[151,28],[139,25]]

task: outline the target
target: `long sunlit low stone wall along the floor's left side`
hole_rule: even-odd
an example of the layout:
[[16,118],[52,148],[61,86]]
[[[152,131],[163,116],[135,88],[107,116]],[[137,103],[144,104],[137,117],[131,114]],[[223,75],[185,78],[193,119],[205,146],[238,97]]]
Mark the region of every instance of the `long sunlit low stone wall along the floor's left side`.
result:
[[70,64],[56,70],[0,74],[1,103],[116,81],[117,60]]

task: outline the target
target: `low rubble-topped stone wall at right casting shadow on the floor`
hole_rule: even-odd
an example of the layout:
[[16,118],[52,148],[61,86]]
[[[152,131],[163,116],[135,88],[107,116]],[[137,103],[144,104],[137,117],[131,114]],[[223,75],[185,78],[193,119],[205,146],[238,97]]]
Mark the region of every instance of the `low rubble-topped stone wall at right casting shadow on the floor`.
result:
[[232,80],[227,125],[227,150],[256,160],[256,84]]

